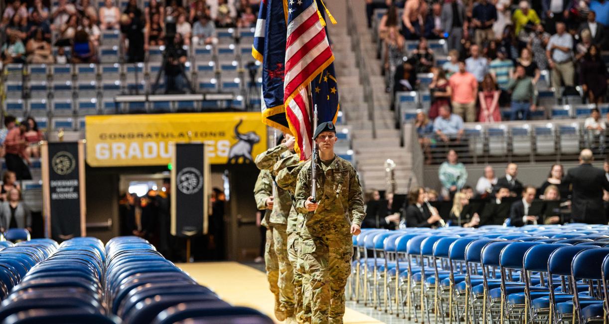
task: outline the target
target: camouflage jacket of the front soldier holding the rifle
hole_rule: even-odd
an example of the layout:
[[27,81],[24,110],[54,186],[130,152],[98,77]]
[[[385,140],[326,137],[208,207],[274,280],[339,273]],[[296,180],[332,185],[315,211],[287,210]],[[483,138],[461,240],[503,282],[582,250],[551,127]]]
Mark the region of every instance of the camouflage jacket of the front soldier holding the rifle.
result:
[[305,208],[311,195],[311,163],[305,163],[296,185],[296,211],[305,214],[303,236],[350,236],[351,224],[361,225],[365,217],[362,186],[351,163],[334,157],[329,166],[317,161],[317,201],[315,212]]

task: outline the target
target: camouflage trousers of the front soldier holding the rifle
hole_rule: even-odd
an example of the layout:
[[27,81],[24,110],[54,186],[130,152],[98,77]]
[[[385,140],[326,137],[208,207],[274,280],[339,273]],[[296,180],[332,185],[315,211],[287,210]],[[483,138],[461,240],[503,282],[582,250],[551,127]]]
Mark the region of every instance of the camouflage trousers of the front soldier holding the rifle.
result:
[[311,323],[342,323],[353,256],[351,237],[302,236],[300,246],[311,279]]

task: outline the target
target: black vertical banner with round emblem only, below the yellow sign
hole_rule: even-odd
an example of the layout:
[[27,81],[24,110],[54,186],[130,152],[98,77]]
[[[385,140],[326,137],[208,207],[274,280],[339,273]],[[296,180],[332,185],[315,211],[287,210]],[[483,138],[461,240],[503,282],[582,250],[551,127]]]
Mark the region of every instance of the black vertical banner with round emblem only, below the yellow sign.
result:
[[205,144],[175,144],[171,169],[171,234],[207,233],[209,161]]

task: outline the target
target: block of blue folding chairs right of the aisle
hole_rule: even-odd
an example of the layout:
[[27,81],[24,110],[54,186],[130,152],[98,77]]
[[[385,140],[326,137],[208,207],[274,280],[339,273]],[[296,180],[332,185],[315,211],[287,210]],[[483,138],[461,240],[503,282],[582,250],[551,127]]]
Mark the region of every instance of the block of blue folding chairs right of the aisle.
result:
[[606,225],[371,229],[353,245],[348,297],[409,320],[588,323],[609,309]]

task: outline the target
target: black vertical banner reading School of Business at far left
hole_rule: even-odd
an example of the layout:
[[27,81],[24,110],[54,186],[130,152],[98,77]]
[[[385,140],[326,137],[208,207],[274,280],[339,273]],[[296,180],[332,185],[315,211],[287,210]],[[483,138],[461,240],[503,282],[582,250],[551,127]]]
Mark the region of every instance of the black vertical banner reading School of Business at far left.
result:
[[84,143],[44,143],[44,232],[47,238],[65,241],[85,236]]

